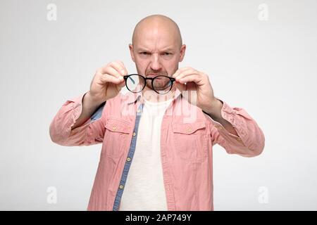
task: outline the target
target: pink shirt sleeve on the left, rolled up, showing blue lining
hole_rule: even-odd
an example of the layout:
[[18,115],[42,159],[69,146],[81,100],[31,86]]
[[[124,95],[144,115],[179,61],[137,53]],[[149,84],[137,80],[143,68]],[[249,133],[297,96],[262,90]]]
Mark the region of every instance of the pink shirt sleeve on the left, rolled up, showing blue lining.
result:
[[61,146],[90,146],[104,140],[106,103],[100,105],[80,127],[71,129],[82,113],[82,98],[85,94],[66,101],[58,110],[49,126],[49,134],[54,143]]

